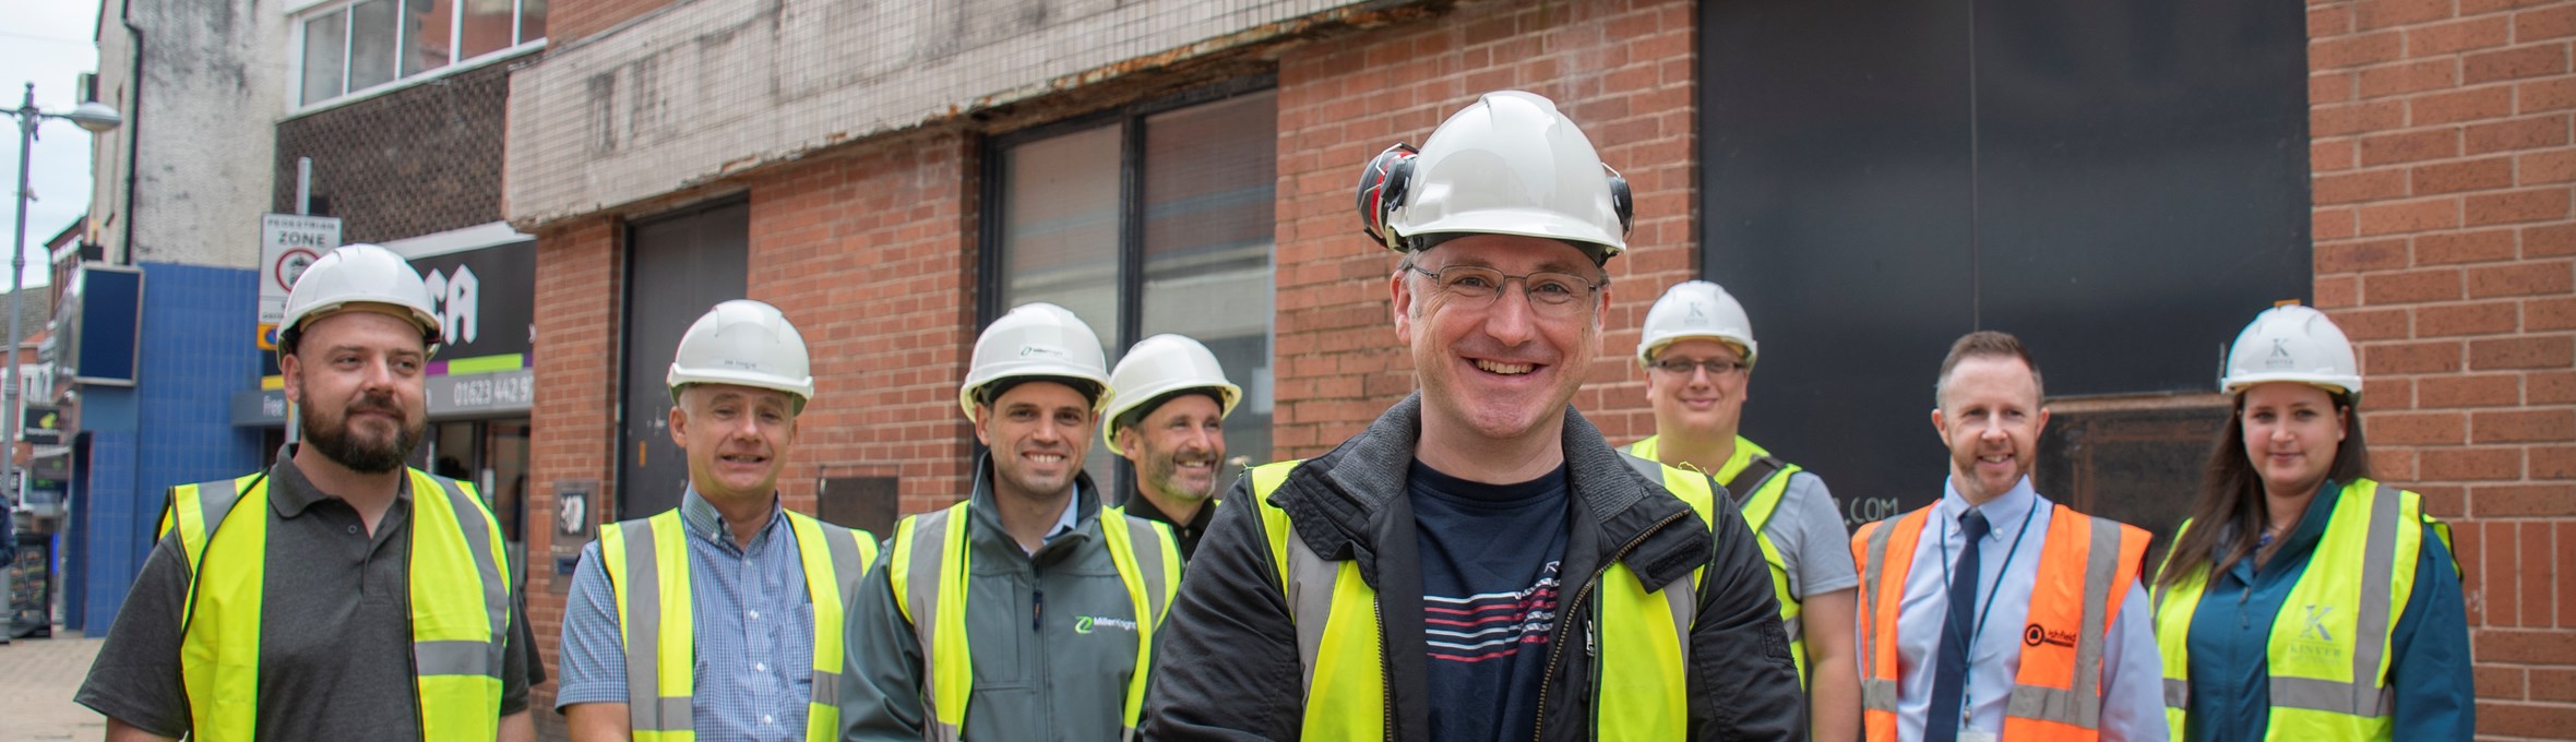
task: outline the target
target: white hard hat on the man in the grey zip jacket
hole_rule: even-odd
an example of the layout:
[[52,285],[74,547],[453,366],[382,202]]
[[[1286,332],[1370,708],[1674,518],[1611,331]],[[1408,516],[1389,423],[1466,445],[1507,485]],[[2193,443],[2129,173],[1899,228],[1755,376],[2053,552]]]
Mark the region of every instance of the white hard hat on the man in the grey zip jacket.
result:
[[1054,376],[1092,381],[1097,397],[1092,412],[1110,404],[1108,358],[1100,356],[1100,335],[1072,309],[1030,301],[1012,307],[1002,319],[992,319],[984,335],[974,338],[974,358],[966,363],[966,384],[958,386],[958,407],[974,420],[976,392],[1018,376]]

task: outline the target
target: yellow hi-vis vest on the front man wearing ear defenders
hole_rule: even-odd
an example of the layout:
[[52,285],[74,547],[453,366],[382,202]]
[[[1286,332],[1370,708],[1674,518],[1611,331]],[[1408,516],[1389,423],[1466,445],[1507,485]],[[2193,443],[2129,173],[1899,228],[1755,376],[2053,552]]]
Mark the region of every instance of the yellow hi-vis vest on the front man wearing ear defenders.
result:
[[[1378,590],[1360,577],[1360,562],[1324,562],[1314,554],[1288,523],[1288,510],[1270,505],[1270,492],[1278,492],[1298,464],[1303,461],[1262,464],[1249,474],[1252,502],[1260,502],[1262,531],[1270,536],[1270,564],[1280,572],[1280,593],[1288,595],[1288,618],[1296,623],[1298,665],[1306,670],[1303,739],[1388,739],[1396,719],[1388,714],[1386,616],[1378,611]],[[1628,459],[1628,466],[1682,497],[1703,526],[1710,523],[1716,492],[1705,474],[1651,459]],[[1592,672],[1600,683],[1592,696],[1592,739],[1687,737],[1690,623],[1700,611],[1698,585],[1705,569],[1690,569],[1690,582],[1674,580],[1654,593],[1646,593],[1636,572],[1618,559],[1602,569],[1592,636],[1584,636],[1600,647]],[[1584,593],[1574,593],[1574,600],[1558,608],[1582,600]],[[1561,611],[1558,621],[1571,616]]]

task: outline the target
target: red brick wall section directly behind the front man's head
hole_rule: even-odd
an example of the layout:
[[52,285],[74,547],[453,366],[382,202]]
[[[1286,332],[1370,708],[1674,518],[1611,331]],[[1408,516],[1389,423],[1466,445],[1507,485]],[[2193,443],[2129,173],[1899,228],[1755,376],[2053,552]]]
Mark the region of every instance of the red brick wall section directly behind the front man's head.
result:
[[1698,273],[1692,3],[1463,3],[1453,15],[1280,54],[1278,459],[1316,456],[1414,389],[1388,319],[1394,252],[1360,237],[1352,183],[1396,139],[1422,144],[1476,93],[1556,100],[1636,191],[1628,255],[1592,384],[1574,397],[1613,441],[1643,438],[1628,361],[1662,289]]

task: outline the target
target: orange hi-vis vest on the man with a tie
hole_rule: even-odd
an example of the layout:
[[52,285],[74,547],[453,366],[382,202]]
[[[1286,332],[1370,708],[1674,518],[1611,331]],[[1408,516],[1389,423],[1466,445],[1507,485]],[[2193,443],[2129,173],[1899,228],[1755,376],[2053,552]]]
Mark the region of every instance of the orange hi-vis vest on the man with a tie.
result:
[[[1937,505],[1906,513],[1893,526],[1878,520],[1852,533],[1862,600],[1860,724],[1868,742],[1896,742],[1896,608],[1904,603],[1914,546]],[[2138,585],[2148,536],[2143,528],[2056,505],[2043,538],[2020,670],[2004,703],[2004,739],[2099,739],[2102,647],[2120,600]]]

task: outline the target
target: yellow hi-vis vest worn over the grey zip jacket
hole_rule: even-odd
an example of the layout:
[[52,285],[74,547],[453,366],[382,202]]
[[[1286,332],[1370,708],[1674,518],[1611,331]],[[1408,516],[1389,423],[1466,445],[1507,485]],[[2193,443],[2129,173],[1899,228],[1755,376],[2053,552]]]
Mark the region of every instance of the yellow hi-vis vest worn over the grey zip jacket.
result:
[[[966,698],[974,693],[974,654],[966,647],[966,580],[974,577],[971,549],[966,546],[966,510],[974,500],[948,505],[922,515],[907,515],[894,526],[886,551],[886,582],[894,587],[894,608],[912,621],[912,636],[922,644],[922,701],[930,719],[922,739],[956,742],[966,729]],[[933,536],[935,533],[935,536]],[[1154,626],[1172,608],[1180,590],[1180,541],[1162,523],[1126,515],[1118,508],[1100,508],[1100,541],[1110,546],[1118,564],[1118,582],[1126,582],[1128,603],[1136,611],[1136,670],[1128,672],[1126,709],[1121,709],[1118,739],[1136,739],[1144,719],[1144,688],[1154,667]]]

